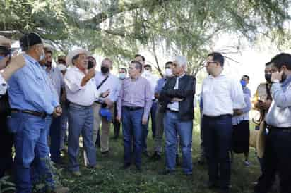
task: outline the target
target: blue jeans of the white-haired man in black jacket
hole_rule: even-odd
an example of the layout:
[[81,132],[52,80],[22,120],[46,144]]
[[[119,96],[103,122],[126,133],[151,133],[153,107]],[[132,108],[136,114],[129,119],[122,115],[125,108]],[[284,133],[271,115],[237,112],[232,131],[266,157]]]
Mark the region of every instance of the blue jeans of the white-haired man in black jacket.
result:
[[176,167],[177,155],[177,135],[180,136],[180,144],[182,146],[182,168],[184,173],[192,173],[192,130],[193,121],[182,121],[178,117],[178,113],[166,111],[164,117],[165,127],[165,154],[166,154],[166,167],[167,170],[174,170]]

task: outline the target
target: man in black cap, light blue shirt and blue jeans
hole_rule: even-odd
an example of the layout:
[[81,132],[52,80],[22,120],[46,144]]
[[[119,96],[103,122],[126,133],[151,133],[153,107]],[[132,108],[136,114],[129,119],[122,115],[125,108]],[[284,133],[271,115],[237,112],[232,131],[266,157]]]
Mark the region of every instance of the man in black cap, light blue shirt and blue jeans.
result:
[[[44,58],[44,45],[39,35],[30,33],[21,37],[20,46],[25,51],[25,67],[12,75],[8,82],[11,106],[8,125],[16,135],[16,192],[32,192],[32,177],[45,179],[47,191],[67,192],[64,187],[56,187],[54,174],[49,169],[51,161],[45,118],[51,114],[60,116],[61,107],[38,62]],[[32,161],[34,176],[30,175]]]

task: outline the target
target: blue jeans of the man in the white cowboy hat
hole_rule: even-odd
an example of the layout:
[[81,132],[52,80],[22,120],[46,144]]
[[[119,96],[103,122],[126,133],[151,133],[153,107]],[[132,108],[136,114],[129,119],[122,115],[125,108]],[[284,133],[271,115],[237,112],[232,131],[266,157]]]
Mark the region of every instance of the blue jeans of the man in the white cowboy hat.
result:
[[78,106],[70,104],[69,107],[69,169],[79,170],[78,153],[79,138],[83,137],[83,145],[88,158],[89,166],[96,165],[96,148],[93,143],[93,108],[92,106]]

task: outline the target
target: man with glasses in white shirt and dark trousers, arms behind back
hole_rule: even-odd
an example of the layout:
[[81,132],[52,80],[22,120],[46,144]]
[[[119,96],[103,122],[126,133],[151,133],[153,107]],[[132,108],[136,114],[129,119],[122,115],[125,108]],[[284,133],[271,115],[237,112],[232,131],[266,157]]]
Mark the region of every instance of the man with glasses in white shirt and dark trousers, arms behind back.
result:
[[[232,115],[244,108],[244,95],[239,80],[222,73],[224,57],[218,52],[208,54],[203,80],[202,130],[208,160],[209,188],[229,192],[230,157],[232,142]],[[218,184],[219,183],[219,184]]]

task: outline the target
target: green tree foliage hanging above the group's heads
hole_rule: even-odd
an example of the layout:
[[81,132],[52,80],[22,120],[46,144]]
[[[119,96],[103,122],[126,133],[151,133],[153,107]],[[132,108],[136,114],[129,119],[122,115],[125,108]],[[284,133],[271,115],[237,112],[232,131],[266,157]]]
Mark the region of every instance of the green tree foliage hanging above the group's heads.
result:
[[289,9],[287,0],[1,0],[0,29],[33,30],[61,51],[83,46],[119,63],[160,47],[187,56],[195,74],[222,33],[237,35],[234,46],[262,34],[282,41]]

